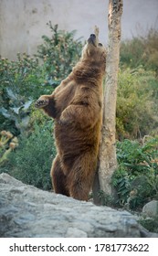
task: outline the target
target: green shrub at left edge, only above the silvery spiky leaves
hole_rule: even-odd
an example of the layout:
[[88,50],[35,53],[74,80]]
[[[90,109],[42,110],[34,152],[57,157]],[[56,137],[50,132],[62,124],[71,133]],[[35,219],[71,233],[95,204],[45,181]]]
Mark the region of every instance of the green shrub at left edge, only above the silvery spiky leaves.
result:
[[[37,88],[40,89],[44,80],[41,74],[38,59],[33,59],[26,53],[18,53],[15,61],[0,59],[1,100],[6,101],[7,95],[10,96],[12,93],[23,96],[23,100],[24,97],[26,99],[34,98],[38,93]],[[10,93],[6,93],[5,96],[3,93],[8,89]],[[5,101],[3,101],[4,104]]]

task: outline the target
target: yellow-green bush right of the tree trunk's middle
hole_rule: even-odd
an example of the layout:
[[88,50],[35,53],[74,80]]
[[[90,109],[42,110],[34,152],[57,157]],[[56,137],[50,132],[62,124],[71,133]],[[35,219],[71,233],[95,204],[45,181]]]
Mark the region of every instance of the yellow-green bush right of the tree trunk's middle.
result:
[[158,81],[153,71],[120,70],[116,109],[119,139],[156,134],[158,126]]

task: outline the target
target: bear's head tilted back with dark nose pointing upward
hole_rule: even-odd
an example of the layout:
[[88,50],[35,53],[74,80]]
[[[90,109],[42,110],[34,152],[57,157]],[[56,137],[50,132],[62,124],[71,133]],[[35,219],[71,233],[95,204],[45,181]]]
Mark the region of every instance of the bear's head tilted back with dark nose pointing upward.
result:
[[81,59],[95,63],[106,62],[106,48],[99,42],[95,34],[91,34],[82,50]]

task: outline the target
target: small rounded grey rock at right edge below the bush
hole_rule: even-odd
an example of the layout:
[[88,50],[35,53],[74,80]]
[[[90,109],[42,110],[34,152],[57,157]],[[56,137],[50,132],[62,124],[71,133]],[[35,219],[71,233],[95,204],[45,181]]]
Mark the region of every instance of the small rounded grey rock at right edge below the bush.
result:
[[142,214],[147,217],[158,217],[158,201],[153,200],[142,208]]

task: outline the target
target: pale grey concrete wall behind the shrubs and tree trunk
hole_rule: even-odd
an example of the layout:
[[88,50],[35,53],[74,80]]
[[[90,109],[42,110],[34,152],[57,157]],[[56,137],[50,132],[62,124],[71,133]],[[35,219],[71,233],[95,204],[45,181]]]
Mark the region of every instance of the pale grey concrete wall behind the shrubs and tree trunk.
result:
[[[0,0],[0,55],[16,59],[17,52],[34,54],[42,35],[49,35],[47,21],[60,29],[77,29],[86,39],[95,25],[107,43],[109,0]],[[122,38],[158,28],[158,0],[124,0]]]

